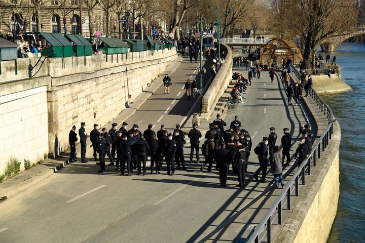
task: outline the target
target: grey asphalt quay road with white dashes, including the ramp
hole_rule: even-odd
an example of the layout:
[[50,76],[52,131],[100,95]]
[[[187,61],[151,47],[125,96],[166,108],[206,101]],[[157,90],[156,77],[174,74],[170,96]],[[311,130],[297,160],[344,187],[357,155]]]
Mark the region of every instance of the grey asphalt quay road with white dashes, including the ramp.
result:
[[[135,123],[143,132],[154,124],[157,132],[160,124],[169,131],[182,125],[194,100],[182,97],[181,88],[194,77],[196,66],[183,59],[170,75],[170,94],[164,95],[160,87],[126,120],[128,128]],[[248,88],[244,103],[224,113],[227,124],[239,116],[253,147],[271,126],[279,138],[284,127],[296,138],[300,124],[307,122],[301,107],[285,105],[280,86],[279,79],[271,84],[263,72]],[[188,122],[182,130],[188,132],[190,126]],[[187,161],[189,152],[185,148]],[[90,148],[87,154],[92,157]],[[114,167],[98,174],[94,162],[72,163],[1,203],[0,242],[230,242],[245,225],[257,224],[269,208],[265,201],[279,194],[270,189],[272,174],[267,177],[270,183],[252,180],[258,160],[251,154],[249,161],[248,185],[243,189],[234,186],[234,174],[228,177],[229,187],[220,187],[217,171],[201,172],[197,164],[188,163],[187,171],[177,170],[174,176],[123,177]],[[261,210],[253,208],[255,203]]]

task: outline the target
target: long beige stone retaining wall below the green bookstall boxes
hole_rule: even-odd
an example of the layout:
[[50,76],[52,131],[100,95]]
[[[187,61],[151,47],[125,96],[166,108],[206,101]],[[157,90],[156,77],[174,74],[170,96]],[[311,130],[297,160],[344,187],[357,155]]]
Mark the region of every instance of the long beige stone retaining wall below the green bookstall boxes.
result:
[[[106,59],[107,58],[107,59]],[[90,133],[121,113],[177,58],[176,50],[46,59],[28,78],[38,58],[2,62],[0,75],[0,174],[10,156],[31,163],[68,148],[72,125]],[[40,69],[37,74],[35,72]],[[5,72],[6,71],[6,72]],[[110,128],[107,128],[110,129]]]

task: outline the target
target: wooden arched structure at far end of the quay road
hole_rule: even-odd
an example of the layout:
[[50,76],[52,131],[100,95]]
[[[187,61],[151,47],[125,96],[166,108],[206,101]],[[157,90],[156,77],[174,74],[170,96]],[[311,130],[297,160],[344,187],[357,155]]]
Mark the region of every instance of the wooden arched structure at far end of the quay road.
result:
[[[277,60],[290,58],[294,64],[298,64],[303,60],[303,56],[299,48],[296,47],[288,39],[273,38],[261,50],[260,62],[263,64],[271,64]],[[269,65],[270,66],[270,65]]]

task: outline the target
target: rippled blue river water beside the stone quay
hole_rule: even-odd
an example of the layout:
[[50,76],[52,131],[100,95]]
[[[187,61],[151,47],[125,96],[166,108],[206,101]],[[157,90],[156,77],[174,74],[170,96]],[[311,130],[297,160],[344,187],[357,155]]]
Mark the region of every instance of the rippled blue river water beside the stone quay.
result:
[[332,55],[354,91],[323,96],[341,126],[340,199],[327,243],[365,242],[365,44],[343,44]]

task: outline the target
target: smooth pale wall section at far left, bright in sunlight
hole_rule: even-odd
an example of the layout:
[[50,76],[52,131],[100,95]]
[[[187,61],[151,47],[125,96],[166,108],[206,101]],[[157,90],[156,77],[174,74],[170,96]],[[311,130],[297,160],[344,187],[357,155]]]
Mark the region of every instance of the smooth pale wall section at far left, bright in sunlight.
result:
[[47,87],[0,96],[0,174],[11,156],[22,162],[43,159],[48,153]]

